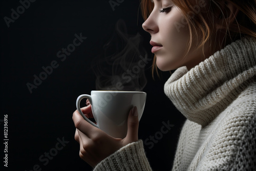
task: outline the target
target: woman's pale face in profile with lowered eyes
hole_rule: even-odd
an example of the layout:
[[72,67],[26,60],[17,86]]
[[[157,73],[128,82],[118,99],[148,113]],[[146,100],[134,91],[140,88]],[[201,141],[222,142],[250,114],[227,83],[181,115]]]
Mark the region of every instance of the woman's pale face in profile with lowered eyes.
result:
[[[162,71],[174,70],[182,66],[193,68],[204,57],[202,52],[195,51],[195,44],[184,57],[190,34],[183,13],[170,0],[154,0],[153,3],[154,9],[142,27],[151,34],[152,53],[156,55],[157,67]],[[197,38],[196,35],[193,36]]]

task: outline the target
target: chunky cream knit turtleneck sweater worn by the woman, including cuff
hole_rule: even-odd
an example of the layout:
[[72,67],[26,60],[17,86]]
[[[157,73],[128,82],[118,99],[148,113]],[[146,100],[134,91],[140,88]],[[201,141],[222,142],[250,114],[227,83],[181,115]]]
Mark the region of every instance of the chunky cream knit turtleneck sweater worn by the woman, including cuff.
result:
[[[177,69],[164,92],[187,118],[173,170],[256,170],[255,39],[237,40],[190,71]],[[140,140],[94,170],[152,169]]]

